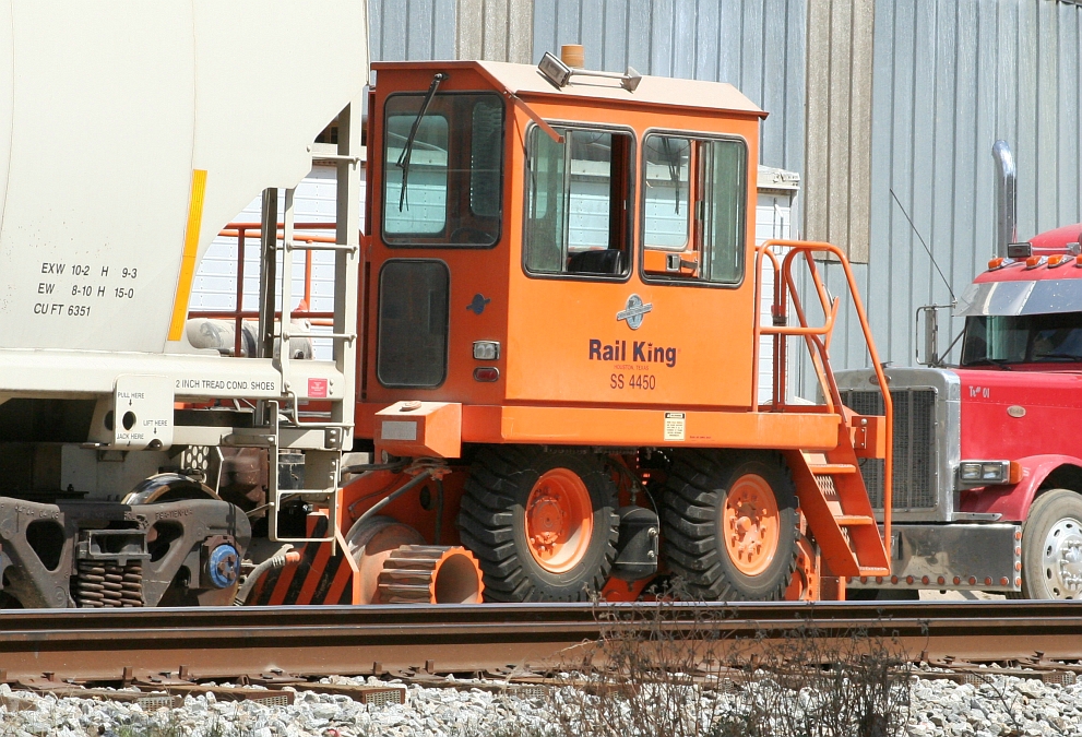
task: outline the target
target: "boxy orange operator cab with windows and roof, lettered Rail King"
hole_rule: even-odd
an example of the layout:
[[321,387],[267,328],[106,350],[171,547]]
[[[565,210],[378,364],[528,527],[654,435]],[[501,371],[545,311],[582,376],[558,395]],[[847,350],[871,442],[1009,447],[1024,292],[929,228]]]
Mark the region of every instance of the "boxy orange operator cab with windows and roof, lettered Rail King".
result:
[[757,406],[762,110],[630,70],[373,69],[361,433],[399,401]]

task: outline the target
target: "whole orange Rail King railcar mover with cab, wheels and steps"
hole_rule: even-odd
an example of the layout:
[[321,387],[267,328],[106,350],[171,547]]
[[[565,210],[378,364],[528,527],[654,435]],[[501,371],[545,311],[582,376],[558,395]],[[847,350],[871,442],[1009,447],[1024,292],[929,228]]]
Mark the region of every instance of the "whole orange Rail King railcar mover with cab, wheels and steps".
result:
[[[708,599],[830,598],[889,575],[857,462],[885,459],[889,482],[890,420],[841,405],[812,253],[848,264],[756,248],[765,112],[728,84],[549,56],[373,69],[372,464],[344,488],[337,549],[309,545],[294,574],[319,581],[260,601],[633,599],[665,576]],[[786,404],[784,370],[759,403],[764,335],[776,367],[786,337],[810,349],[825,404]]]

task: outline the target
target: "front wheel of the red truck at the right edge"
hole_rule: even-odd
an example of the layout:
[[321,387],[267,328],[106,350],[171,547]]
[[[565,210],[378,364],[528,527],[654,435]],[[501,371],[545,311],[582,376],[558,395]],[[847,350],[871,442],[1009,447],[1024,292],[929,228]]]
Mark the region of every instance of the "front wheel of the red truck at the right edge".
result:
[[1082,598],[1082,496],[1050,489],[1022,527],[1022,596]]

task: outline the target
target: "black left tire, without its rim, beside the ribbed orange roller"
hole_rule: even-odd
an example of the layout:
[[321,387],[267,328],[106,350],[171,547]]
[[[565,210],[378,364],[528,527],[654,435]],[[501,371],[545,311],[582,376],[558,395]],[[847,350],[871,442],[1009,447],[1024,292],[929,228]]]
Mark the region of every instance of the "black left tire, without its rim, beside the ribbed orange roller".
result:
[[[590,491],[592,539],[578,566],[551,573],[537,564],[526,542],[525,506],[547,471],[568,468]],[[599,593],[616,557],[619,518],[616,485],[593,454],[546,453],[539,448],[481,449],[469,468],[459,511],[463,545],[485,573],[486,602],[584,602]]]

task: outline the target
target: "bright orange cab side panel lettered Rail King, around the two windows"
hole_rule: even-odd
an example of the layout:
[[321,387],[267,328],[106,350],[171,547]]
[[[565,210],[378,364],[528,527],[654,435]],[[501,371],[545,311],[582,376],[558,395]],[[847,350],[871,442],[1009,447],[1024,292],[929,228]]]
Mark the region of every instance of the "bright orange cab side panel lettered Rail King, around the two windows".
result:
[[[546,118],[571,118],[586,123],[611,124],[610,121],[617,118],[621,126],[634,131],[640,145],[647,131],[657,129],[734,135],[747,143],[749,161],[759,158],[759,120],[756,117],[736,118],[730,114],[711,119],[655,109],[620,110],[614,116],[614,111],[606,108],[584,106],[572,111],[567,106],[543,104],[534,105],[534,109]],[[528,120],[518,122],[525,128]],[[521,207],[525,198],[522,167],[514,167],[512,171],[511,198]],[[748,202],[753,203],[754,177],[748,177]],[[634,192],[633,219],[638,223],[641,216],[639,186]],[[513,239],[509,243],[512,268],[509,273],[507,399],[606,406],[750,408],[751,329],[757,316],[753,280],[749,277],[754,251],[753,218],[747,218],[745,226],[748,268],[738,287],[647,283],[640,268],[642,253],[638,249],[634,269],[625,283],[530,277],[520,265],[522,239]],[[628,307],[632,294],[639,295],[652,308],[638,330],[631,330],[627,320],[617,318]],[[619,347],[619,358],[604,360],[604,353],[601,356],[596,352],[592,354],[592,340],[598,342],[603,350],[605,346]],[[659,356],[657,348],[663,349]],[[619,380],[621,375],[622,382]],[[653,389],[632,389],[630,380],[637,376],[653,377],[649,384]],[[616,426],[611,429],[619,432]]]

